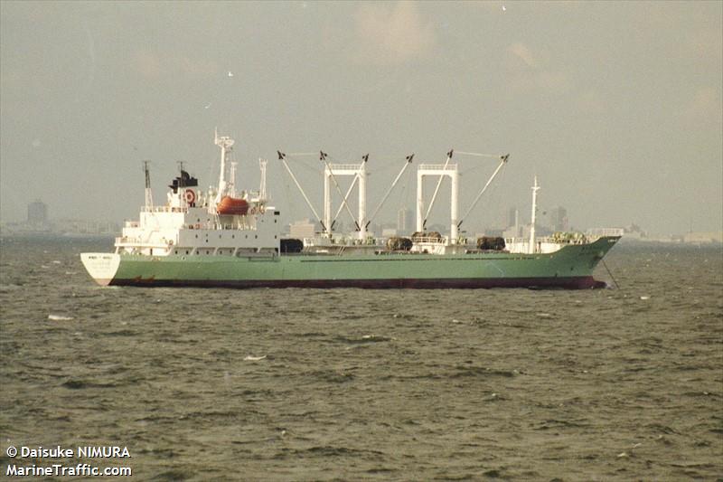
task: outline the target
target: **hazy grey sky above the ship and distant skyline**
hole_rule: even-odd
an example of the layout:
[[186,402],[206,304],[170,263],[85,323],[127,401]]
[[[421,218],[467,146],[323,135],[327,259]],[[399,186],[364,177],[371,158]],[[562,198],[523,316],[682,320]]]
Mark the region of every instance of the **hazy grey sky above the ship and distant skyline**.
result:
[[[156,203],[176,161],[215,181],[218,126],[239,184],[256,187],[268,157],[274,203],[296,218],[310,213],[277,149],[371,153],[374,198],[404,156],[454,147],[511,153],[470,227],[512,205],[529,217],[536,173],[542,206],[577,227],[723,229],[721,2],[0,5],[4,222],[35,198],[56,219],[135,218],[142,159]],[[468,204],[494,161],[459,159]],[[384,217],[412,207],[413,184]]]

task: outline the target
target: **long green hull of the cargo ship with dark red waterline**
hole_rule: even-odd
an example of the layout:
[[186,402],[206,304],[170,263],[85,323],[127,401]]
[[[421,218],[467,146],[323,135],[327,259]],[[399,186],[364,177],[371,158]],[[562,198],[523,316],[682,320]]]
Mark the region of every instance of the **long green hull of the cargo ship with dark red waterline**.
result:
[[594,288],[601,283],[593,279],[593,270],[618,239],[604,237],[590,244],[570,244],[548,254],[124,254],[119,255],[112,278],[97,280],[110,285],[234,288]]

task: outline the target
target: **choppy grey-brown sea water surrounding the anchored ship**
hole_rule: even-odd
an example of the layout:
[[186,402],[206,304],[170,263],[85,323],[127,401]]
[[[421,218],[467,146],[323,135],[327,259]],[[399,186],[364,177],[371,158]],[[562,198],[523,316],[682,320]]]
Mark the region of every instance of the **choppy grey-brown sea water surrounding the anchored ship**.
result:
[[723,476],[719,245],[623,242],[619,288],[566,291],[100,288],[79,254],[111,244],[2,240],[4,474],[96,446],[139,480]]

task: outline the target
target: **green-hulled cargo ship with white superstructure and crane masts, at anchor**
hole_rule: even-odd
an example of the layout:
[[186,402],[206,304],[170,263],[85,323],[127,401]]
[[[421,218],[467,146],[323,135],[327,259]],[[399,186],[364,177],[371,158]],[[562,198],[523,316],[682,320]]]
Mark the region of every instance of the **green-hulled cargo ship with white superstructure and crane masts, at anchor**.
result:
[[[530,236],[468,240],[460,230],[509,155],[493,156],[499,162],[493,175],[475,197],[464,216],[459,215],[459,172],[454,151],[444,164],[422,164],[417,173],[417,226],[409,236],[383,239],[368,231],[371,219],[412,164],[404,160],[399,175],[367,216],[367,161],[333,164],[324,152],[324,206],[319,216],[309,196],[288,164],[278,159],[296,184],[319,232],[305,238],[285,235],[281,213],[269,203],[266,189],[267,161],[259,160],[261,182],[257,191],[236,189],[234,140],[215,136],[221,149],[218,185],[203,192],[198,180],[183,170],[169,184],[164,205],[155,205],[146,163],[146,203],[137,221],[127,221],[116,238],[115,251],[80,255],[89,275],[102,286],[226,287],[226,288],[601,288],[593,278],[619,236],[587,238],[579,233],[535,236],[537,193],[532,187]],[[466,153],[473,154],[473,153]],[[489,156],[489,155],[480,155]],[[343,194],[338,179],[352,176]],[[424,179],[437,180],[427,201]],[[450,229],[447,235],[426,230],[432,205],[443,181],[450,182]],[[349,203],[358,191],[357,213]],[[332,198],[341,203],[334,215]],[[334,232],[335,220],[345,210],[354,232]],[[462,234],[461,234],[462,233]]]

